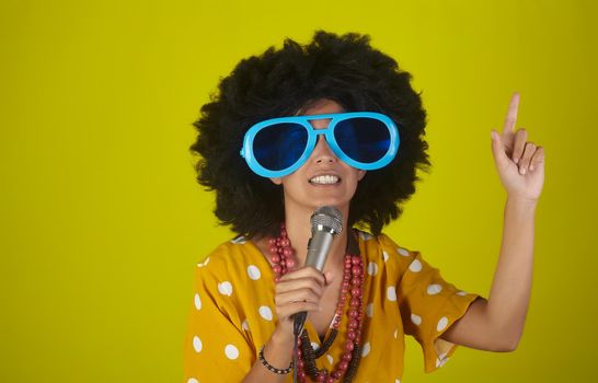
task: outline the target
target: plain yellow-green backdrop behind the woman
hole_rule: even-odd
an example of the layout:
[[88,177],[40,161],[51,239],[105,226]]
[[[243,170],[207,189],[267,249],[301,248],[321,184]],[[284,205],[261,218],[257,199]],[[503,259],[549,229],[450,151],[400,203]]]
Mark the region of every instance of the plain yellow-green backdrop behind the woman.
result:
[[195,183],[191,124],[240,59],[315,28],[369,34],[423,91],[433,172],[386,232],[458,287],[490,290],[505,202],[490,131],[513,91],[547,151],[519,348],[460,348],[425,375],[407,339],[403,381],[594,381],[594,4],[2,0],[0,381],[182,380],[195,264],[231,236]]

